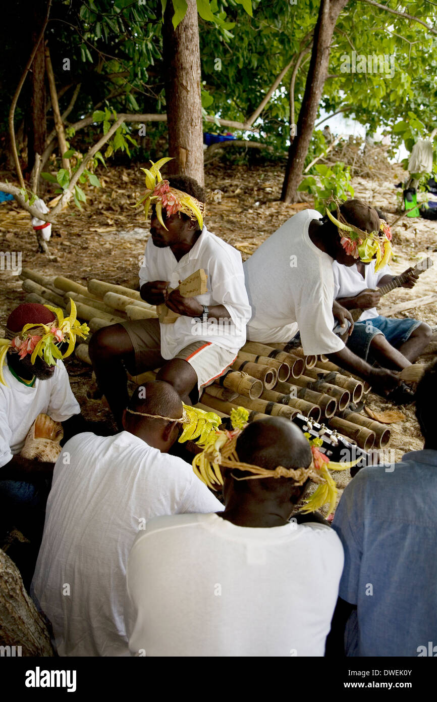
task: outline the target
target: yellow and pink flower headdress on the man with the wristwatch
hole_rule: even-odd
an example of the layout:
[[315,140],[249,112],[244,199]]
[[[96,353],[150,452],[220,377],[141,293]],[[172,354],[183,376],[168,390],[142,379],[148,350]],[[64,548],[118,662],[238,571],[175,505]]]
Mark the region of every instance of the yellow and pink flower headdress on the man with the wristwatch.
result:
[[176,212],[182,212],[189,216],[191,220],[197,220],[199,222],[199,227],[202,228],[205,203],[200,202],[186,192],[182,192],[182,190],[170,187],[168,180],[163,180],[159,172],[159,169],[166,164],[167,161],[171,160],[171,158],[166,157],[157,161],[156,164],[150,161],[152,167],[149,170],[147,168],[141,169],[146,174],[147,190],[140,201],[137,202],[136,206],[144,204],[144,215],[147,218],[150,206],[154,205],[156,208],[156,217],[164,229],[167,229],[167,227],[163,222],[162,208],[166,209],[168,216]]

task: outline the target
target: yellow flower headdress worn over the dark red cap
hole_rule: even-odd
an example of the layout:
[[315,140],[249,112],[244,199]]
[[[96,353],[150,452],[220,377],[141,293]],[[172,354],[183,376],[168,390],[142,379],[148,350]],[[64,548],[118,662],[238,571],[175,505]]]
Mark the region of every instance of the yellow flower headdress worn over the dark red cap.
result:
[[[59,307],[44,305],[56,315],[56,320],[48,324],[25,324],[12,339],[0,339],[0,383],[6,385],[3,366],[8,350],[12,349],[17,352],[20,358],[30,355],[32,364],[39,356],[48,366],[55,366],[58,359],[67,358],[72,354],[76,336],[81,336],[81,338],[88,336],[90,329],[87,324],[79,324],[77,321],[76,305],[72,298],[70,298],[70,303],[69,317],[64,317]],[[59,345],[67,342],[67,350],[62,353]]]

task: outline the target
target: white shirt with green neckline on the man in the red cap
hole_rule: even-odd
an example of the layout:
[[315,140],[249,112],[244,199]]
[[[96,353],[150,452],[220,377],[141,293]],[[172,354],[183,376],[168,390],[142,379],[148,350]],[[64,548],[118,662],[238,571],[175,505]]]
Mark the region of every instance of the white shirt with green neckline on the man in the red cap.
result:
[[47,380],[36,378],[32,387],[20,383],[6,364],[4,378],[7,385],[0,383],[0,466],[20,453],[27,432],[41,412],[55,422],[65,422],[81,411],[60,360],[53,376]]

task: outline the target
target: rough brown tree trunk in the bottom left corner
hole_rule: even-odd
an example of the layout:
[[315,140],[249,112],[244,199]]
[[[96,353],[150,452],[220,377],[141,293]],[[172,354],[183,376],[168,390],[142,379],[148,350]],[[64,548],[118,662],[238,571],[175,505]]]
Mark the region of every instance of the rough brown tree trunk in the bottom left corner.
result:
[[53,656],[46,624],[27,595],[18,568],[1,549],[0,645],[9,647],[6,656]]

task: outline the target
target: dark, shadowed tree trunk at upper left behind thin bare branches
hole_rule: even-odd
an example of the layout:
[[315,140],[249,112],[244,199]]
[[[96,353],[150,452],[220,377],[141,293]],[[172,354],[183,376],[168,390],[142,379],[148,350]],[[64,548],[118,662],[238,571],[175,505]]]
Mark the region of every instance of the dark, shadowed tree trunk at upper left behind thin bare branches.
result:
[[[31,47],[35,46],[41,32],[41,24],[46,14],[46,1],[34,0]],[[41,41],[32,62],[30,119],[27,133],[27,172],[34,166],[35,154],[43,153],[46,143],[46,59],[44,42]]]

